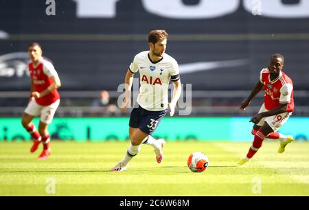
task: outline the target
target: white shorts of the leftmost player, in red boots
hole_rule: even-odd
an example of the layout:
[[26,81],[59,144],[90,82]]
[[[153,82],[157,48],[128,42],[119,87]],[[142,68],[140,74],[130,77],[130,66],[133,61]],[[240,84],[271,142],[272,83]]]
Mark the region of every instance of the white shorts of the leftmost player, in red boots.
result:
[[36,103],[35,99],[32,99],[25,109],[25,113],[34,117],[41,115],[40,120],[43,123],[51,124],[59,104],[60,100],[56,100],[56,102],[49,106],[41,106]]

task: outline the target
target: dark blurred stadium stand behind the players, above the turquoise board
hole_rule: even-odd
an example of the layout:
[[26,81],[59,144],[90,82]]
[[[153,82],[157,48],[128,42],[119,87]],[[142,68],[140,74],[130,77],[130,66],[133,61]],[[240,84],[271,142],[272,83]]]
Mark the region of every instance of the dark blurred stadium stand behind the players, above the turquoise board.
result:
[[[168,18],[149,12],[146,1],[121,0],[113,17],[80,17],[78,1],[55,2],[56,15],[48,16],[46,1],[0,1],[0,117],[20,117],[27,105],[30,78],[23,68],[27,45],[34,41],[41,43],[44,56],[54,62],[62,81],[56,117],[110,117],[104,110],[93,114],[91,103],[104,89],[110,92],[111,102],[117,103],[121,94],[117,88],[124,82],[128,65],[135,54],[148,49],[147,34],[153,29],[168,31],[167,53],[184,71],[181,82],[192,84],[190,117],[249,117],[256,113],[262,94],[246,112],[239,106],[275,53],[285,56],[284,71],[294,81],[297,108],[293,116],[309,115],[309,14],[299,17],[295,12],[276,18],[263,15],[262,10],[262,15],[253,15],[244,6],[249,1],[233,1],[236,9],[222,16]],[[202,1],[179,2],[194,8]],[[262,8],[266,2],[262,1]],[[275,2],[293,9],[303,1]],[[277,10],[273,8],[274,13]],[[15,54],[18,52],[21,54]],[[205,69],[185,69],[198,62]],[[207,69],[209,62],[220,65]]]

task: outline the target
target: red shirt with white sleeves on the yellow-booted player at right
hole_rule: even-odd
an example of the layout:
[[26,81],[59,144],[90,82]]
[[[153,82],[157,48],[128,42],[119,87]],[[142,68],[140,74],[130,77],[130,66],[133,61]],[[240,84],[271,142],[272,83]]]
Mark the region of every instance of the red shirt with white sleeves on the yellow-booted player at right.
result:
[[264,84],[264,105],[267,110],[277,108],[279,104],[288,103],[286,112],[294,110],[293,82],[284,72],[275,80],[271,80],[268,68],[262,69],[260,81]]

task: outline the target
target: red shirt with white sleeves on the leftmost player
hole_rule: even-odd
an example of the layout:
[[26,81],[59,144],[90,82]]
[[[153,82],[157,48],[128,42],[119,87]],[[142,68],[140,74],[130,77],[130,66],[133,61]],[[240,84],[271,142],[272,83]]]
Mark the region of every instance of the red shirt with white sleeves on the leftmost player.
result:
[[[53,81],[50,79],[52,76],[58,75],[52,63],[43,59],[40,60],[36,67],[33,62],[30,62],[29,71],[34,84],[34,91],[38,93],[45,91],[52,84]],[[60,99],[60,95],[55,89],[52,93],[36,98],[36,103],[41,106],[48,106],[58,99]]]

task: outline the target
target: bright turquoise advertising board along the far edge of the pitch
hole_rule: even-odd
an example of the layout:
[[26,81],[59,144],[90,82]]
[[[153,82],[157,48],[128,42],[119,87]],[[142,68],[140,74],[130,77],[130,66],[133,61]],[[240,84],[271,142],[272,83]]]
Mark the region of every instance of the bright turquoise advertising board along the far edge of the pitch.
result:
[[[34,120],[38,124],[38,119]],[[308,141],[309,117],[291,117],[280,129],[299,141]],[[248,117],[165,117],[154,137],[168,141],[252,141]],[[127,117],[55,118],[49,131],[60,141],[126,141]],[[19,118],[0,118],[0,141],[30,141]]]

